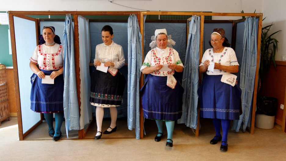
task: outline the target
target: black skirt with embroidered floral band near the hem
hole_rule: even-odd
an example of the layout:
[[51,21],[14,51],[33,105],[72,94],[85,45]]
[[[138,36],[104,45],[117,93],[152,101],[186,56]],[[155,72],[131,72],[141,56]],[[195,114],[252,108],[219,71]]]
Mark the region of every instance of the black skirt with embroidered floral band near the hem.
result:
[[125,84],[125,77],[119,71],[115,76],[112,76],[109,72],[94,70],[91,74],[89,101],[120,106],[123,101]]

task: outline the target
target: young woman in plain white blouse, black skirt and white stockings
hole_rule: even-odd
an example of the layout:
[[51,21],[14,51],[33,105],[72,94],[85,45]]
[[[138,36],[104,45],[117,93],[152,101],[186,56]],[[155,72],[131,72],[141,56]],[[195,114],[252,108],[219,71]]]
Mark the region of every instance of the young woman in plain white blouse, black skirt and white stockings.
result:
[[108,67],[107,73],[94,70],[91,76],[91,95],[89,101],[96,106],[97,133],[94,139],[102,136],[103,108],[110,109],[110,127],[103,134],[111,134],[117,129],[117,108],[122,104],[125,77],[118,71],[125,64],[123,48],[112,41],[112,27],[106,25],[101,30],[102,44],[96,45],[94,66],[104,64]]

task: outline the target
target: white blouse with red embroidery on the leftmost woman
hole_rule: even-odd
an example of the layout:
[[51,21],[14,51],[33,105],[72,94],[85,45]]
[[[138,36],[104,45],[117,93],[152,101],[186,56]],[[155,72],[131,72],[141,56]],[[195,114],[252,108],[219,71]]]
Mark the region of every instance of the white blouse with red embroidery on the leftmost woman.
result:
[[43,70],[59,70],[63,67],[63,46],[55,44],[54,46],[38,45],[30,60],[39,64]]

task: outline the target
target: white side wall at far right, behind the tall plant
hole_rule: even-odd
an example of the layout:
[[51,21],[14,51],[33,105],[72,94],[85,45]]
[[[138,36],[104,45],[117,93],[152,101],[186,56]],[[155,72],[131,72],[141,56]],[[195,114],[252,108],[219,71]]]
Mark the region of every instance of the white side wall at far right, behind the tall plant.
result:
[[281,61],[281,56],[286,56],[286,1],[285,0],[263,0],[263,18],[262,27],[274,25],[270,28],[269,33],[272,34],[278,30],[282,30],[275,34],[278,42],[278,52],[276,52],[275,60]]

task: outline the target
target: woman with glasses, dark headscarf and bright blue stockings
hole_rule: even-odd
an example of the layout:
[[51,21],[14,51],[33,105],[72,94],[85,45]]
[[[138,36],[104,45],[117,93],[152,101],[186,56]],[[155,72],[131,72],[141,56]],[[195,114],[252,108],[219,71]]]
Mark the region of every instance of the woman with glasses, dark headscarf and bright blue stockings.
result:
[[[239,120],[241,89],[237,83],[238,62],[235,52],[230,48],[222,28],[214,29],[209,41],[213,48],[207,49],[202,57],[199,70],[206,72],[198,89],[200,116],[211,118],[215,126],[215,137],[210,141],[216,144],[222,140],[221,151],[227,151],[227,134],[230,120]],[[213,69],[208,69],[209,65]],[[223,136],[220,134],[220,126]]]

